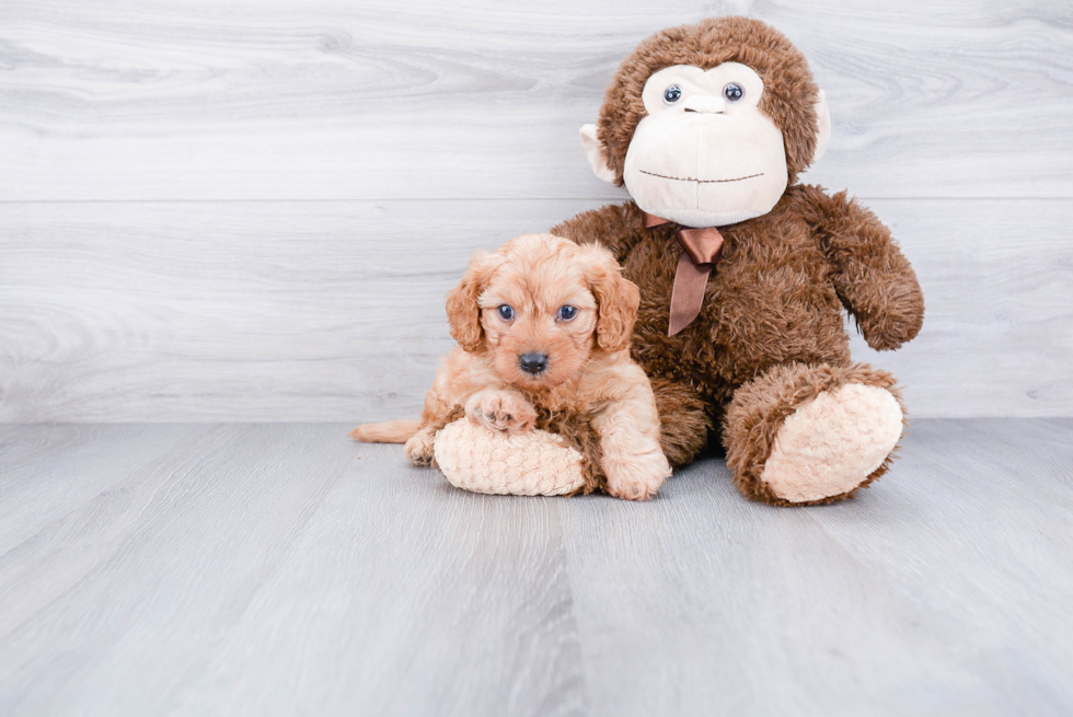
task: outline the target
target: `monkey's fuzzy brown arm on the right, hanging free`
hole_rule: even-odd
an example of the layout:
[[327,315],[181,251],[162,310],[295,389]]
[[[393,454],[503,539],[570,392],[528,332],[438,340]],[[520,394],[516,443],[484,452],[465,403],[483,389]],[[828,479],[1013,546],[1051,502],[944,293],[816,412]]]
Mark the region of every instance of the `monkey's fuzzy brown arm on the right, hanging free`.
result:
[[911,340],[924,322],[924,296],[890,230],[845,192],[829,197],[819,187],[801,189],[834,288],[868,346],[890,350]]

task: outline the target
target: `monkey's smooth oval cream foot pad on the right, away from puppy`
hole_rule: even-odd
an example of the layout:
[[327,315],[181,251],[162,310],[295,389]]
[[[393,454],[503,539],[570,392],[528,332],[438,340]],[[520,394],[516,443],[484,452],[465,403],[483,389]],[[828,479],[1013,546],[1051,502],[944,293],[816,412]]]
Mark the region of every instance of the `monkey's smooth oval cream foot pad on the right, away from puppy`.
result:
[[850,493],[887,460],[902,418],[895,396],[878,386],[826,391],[780,427],[760,479],[792,502]]

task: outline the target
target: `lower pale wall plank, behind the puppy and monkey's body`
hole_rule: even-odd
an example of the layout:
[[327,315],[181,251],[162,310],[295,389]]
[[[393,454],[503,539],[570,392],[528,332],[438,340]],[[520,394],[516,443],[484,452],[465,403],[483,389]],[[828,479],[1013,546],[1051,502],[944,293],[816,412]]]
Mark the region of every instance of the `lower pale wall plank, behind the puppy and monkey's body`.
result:
[[[476,247],[592,201],[0,205],[0,421],[416,416]],[[876,200],[920,337],[859,360],[912,416],[1073,413],[1073,209]]]

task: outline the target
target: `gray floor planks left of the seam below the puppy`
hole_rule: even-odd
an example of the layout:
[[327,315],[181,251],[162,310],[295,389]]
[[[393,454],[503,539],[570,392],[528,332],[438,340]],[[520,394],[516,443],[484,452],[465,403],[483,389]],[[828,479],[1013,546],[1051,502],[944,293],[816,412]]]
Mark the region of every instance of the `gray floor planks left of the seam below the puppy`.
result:
[[578,714],[559,506],[345,433],[4,429],[0,712]]

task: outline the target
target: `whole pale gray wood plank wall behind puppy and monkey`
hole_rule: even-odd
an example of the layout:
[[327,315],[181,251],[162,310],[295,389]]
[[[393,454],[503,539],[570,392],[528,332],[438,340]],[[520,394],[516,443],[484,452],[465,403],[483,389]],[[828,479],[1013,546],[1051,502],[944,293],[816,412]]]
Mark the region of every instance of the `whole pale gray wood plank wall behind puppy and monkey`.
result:
[[414,414],[477,247],[624,194],[577,129],[664,26],[810,58],[924,286],[915,416],[1073,414],[1073,5],[0,4],[0,421]]

